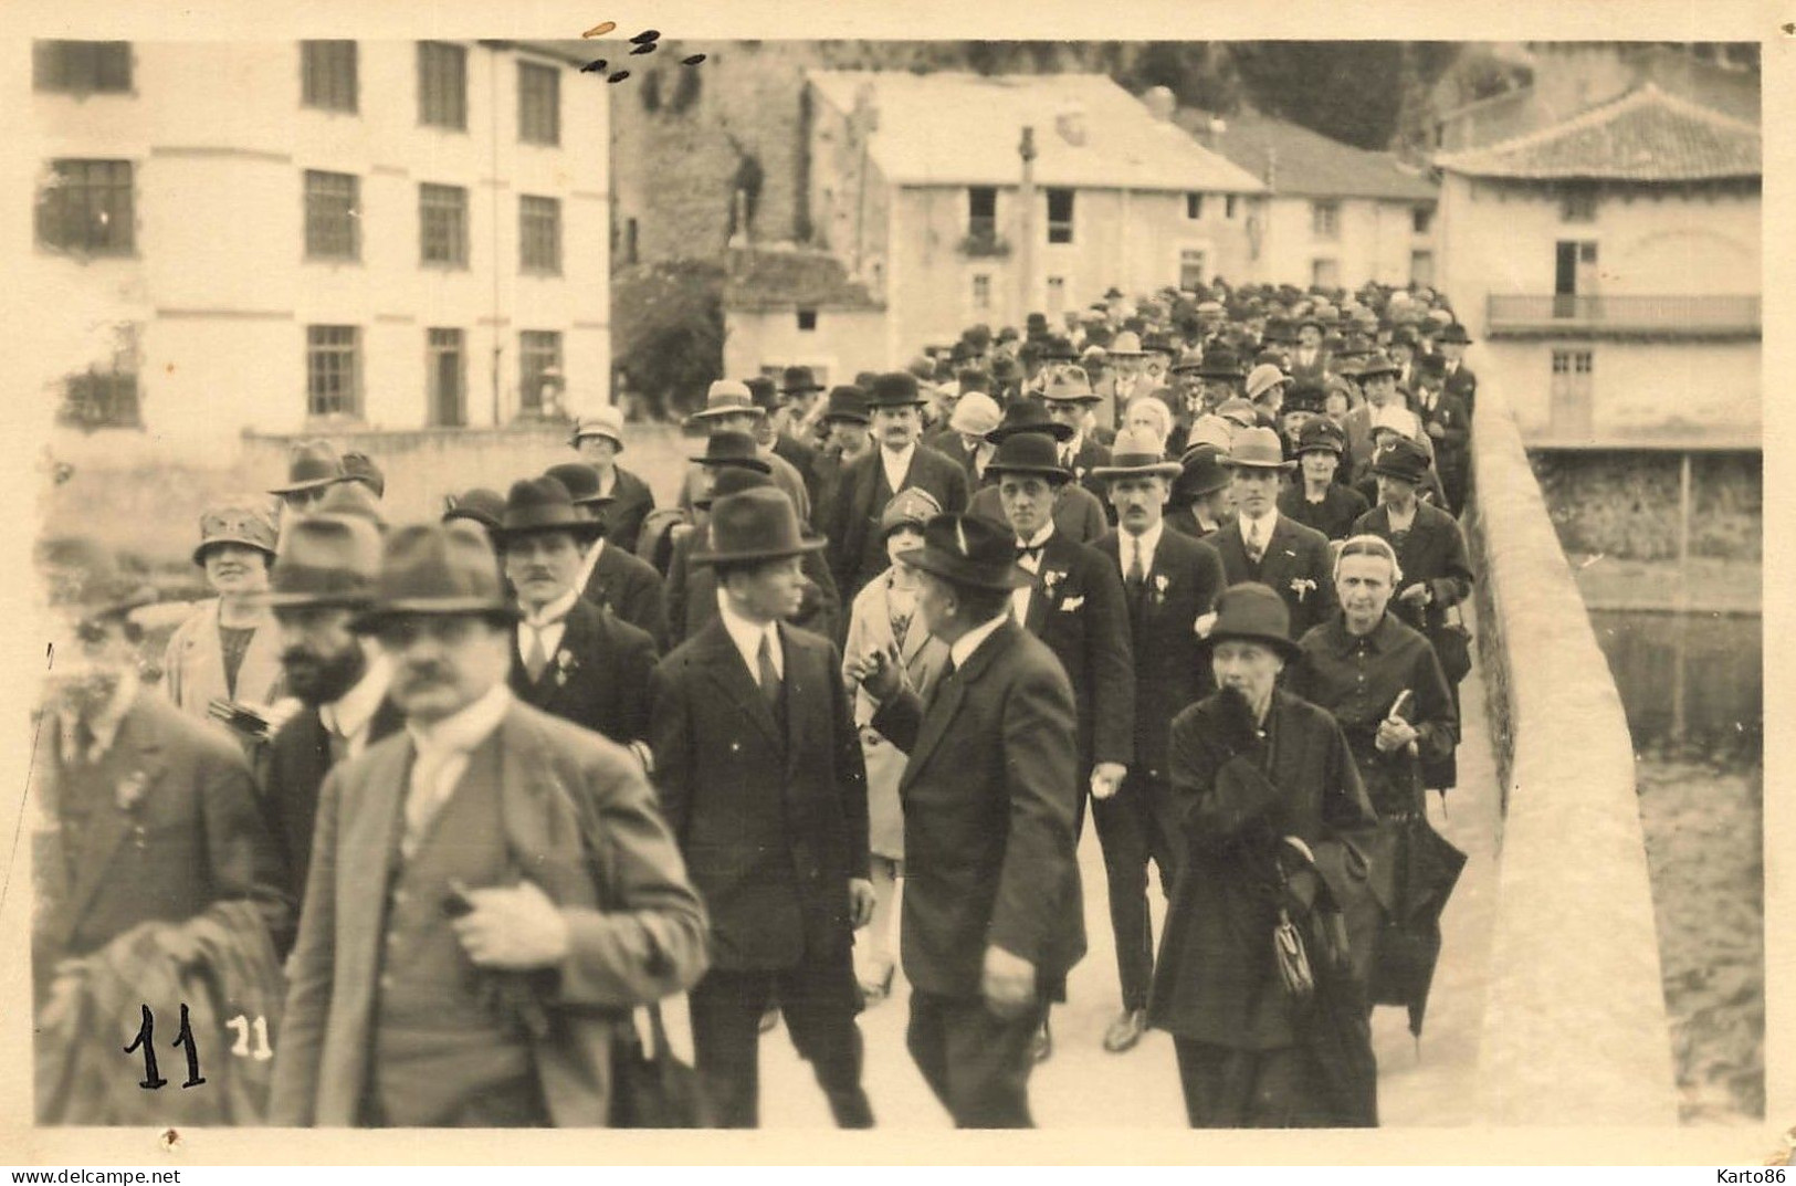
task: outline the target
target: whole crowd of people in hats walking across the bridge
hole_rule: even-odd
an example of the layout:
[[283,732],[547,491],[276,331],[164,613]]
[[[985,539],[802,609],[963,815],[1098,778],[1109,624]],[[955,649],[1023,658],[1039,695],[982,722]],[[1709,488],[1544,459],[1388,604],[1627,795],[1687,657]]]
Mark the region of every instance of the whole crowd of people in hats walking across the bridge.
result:
[[621,1026],[684,992],[688,1120],[758,1123],[783,1017],[871,1127],[857,1017],[902,970],[952,1120],[1026,1127],[1088,814],[1103,1049],[1171,1033],[1194,1127],[1374,1125],[1370,1012],[1421,1035],[1464,861],[1428,796],[1469,668],[1466,345],[1428,289],[1112,289],[830,388],[720,379],[668,507],[614,408],[435,523],[313,442],[205,512],[217,597],[149,661],[153,593],[74,548],[40,1114],[145,1107],[84,1019],[135,1026],[158,967],[183,1031],[264,1022],[216,1120],[630,1123]]

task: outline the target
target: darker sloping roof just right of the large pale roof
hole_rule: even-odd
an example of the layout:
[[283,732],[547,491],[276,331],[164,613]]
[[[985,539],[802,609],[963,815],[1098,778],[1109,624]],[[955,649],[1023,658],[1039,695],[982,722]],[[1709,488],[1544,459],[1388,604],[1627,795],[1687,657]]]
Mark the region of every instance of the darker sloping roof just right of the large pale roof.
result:
[[1404,169],[1390,153],[1342,144],[1282,119],[1237,111],[1223,119],[1223,129],[1214,137],[1207,135],[1207,113],[1187,110],[1176,119],[1254,176],[1266,180],[1270,165],[1273,194],[1394,201],[1433,201],[1439,196],[1433,181]]

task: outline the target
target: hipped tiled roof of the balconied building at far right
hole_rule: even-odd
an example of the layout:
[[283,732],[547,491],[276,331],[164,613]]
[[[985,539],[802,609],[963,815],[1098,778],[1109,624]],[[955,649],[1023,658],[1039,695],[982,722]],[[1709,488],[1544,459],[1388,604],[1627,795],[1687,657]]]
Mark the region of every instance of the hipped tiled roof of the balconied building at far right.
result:
[[1572,119],[1435,165],[1476,178],[1706,181],[1760,176],[1758,126],[1652,83]]

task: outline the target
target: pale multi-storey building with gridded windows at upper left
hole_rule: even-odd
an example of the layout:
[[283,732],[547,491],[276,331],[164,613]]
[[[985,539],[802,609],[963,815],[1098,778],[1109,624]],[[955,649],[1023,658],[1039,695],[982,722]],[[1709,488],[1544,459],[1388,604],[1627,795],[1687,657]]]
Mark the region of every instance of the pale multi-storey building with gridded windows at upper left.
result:
[[57,437],[494,426],[609,397],[607,88],[539,43],[40,41],[14,223]]

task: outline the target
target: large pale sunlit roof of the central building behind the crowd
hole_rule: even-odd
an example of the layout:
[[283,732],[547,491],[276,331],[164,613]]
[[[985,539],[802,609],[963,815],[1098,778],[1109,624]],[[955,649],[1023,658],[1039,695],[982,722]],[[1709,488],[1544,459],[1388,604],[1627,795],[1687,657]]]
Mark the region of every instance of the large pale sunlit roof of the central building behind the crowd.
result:
[[[1034,181],[1054,187],[1261,194],[1261,181],[1211,153],[1103,74],[905,74],[808,70],[832,106],[862,90],[878,111],[869,151],[898,185],[1017,185],[1017,146],[1034,128]],[[1083,122],[1083,144],[1060,133]]]

